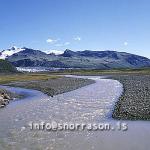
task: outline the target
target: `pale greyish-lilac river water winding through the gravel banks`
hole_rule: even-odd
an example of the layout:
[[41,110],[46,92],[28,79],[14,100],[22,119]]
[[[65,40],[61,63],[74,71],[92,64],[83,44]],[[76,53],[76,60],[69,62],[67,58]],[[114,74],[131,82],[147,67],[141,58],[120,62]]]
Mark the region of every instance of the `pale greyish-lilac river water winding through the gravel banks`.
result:
[[[94,84],[48,97],[22,88],[5,87],[26,94],[0,109],[0,150],[147,150],[150,147],[150,122],[117,121],[111,118],[122,93],[122,85],[102,77]],[[31,130],[29,123],[111,124],[111,130],[47,131]],[[125,124],[128,130],[119,130]],[[115,130],[114,130],[115,128]]]

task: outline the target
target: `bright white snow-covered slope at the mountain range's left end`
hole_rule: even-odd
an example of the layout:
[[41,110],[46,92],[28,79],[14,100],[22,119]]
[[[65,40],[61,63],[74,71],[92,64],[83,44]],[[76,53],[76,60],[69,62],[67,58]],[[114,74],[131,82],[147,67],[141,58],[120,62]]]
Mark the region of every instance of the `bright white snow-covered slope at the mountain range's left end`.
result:
[[8,56],[12,56],[15,53],[25,50],[24,48],[17,48],[16,46],[11,47],[10,49],[3,50],[0,52],[0,59],[6,59]]

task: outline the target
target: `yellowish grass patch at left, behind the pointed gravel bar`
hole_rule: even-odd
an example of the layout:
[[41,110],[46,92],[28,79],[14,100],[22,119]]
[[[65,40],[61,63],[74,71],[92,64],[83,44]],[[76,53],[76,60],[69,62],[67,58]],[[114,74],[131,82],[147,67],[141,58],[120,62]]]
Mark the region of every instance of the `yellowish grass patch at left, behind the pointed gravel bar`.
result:
[[41,81],[41,80],[49,80],[49,79],[57,79],[60,76],[49,75],[49,74],[8,74],[8,75],[0,75],[0,84],[7,84],[10,82],[17,81]]

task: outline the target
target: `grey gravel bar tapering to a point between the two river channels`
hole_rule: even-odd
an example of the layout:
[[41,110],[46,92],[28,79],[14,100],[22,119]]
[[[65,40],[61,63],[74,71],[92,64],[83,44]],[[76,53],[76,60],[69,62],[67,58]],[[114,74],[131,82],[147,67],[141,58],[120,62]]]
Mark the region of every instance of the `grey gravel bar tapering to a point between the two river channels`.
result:
[[60,77],[57,79],[48,79],[47,81],[26,81],[26,82],[14,82],[7,84],[13,87],[22,87],[27,89],[39,90],[49,96],[62,94],[69,92],[80,87],[95,83],[89,79],[79,79],[71,77]]

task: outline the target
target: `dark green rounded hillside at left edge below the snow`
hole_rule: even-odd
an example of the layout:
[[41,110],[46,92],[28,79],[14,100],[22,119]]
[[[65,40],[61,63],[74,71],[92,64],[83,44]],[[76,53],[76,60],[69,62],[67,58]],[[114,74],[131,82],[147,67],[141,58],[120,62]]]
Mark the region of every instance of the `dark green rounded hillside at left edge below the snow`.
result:
[[8,61],[0,59],[0,73],[13,73],[17,69]]

